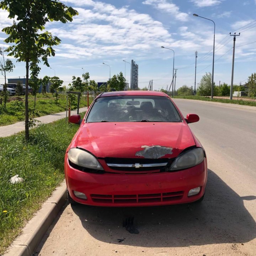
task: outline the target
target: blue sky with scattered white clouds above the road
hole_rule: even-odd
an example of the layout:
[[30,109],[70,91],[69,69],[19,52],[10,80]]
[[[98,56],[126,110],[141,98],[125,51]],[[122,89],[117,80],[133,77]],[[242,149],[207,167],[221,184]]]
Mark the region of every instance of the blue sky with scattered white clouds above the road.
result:
[[[130,83],[130,65],[138,64],[139,87],[166,89],[172,80],[173,57],[176,89],[194,86],[195,52],[198,52],[196,86],[212,73],[215,22],[215,84],[231,84],[233,36],[236,37],[234,84],[244,84],[256,72],[256,0],[62,0],[79,12],[73,22],[49,22],[46,30],[62,42],[55,46],[50,68],[40,64],[39,77],[58,76],[68,85],[72,76],[89,72],[96,82],[123,72]],[[0,30],[12,24],[0,10]],[[0,32],[0,47],[6,34]],[[170,48],[164,49],[161,46]],[[10,57],[9,57],[10,58]],[[13,59],[11,57],[11,59]],[[25,64],[16,63],[7,78],[24,77]],[[106,63],[110,68],[102,63]],[[4,82],[0,76],[0,83]]]

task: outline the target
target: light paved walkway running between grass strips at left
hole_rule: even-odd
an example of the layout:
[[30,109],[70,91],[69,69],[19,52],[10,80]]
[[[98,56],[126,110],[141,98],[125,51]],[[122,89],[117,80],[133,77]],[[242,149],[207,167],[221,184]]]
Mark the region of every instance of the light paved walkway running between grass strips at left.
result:
[[[80,108],[79,112],[85,112],[87,110],[87,107],[84,108]],[[71,114],[76,114],[77,111],[76,110],[72,110]],[[50,114],[48,116],[42,116],[42,117],[38,117],[35,118],[38,121],[40,121],[37,125],[42,124],[42,123],[51,123],[54,121],[57,121],[59,119],[65,118],[66,117],[66,111],[64,112],[60,112],[60,113],[56,113],[56,114]],[[0,126],[0,137],[7,137],[7,136],[11,136],[15,133],[18,132],[22,132],[23,130],[25,130],[25,122],[17,122],[14,124],[10,124],[8,126]]]

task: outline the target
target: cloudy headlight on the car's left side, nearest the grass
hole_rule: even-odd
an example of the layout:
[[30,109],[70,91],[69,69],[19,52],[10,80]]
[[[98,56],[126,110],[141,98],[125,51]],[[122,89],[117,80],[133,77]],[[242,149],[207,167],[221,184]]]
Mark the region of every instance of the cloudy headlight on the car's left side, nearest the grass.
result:
[[81,167],[103,170],[98,160],[90,153],[77,149],[71,148],[68,152],[69,161]]

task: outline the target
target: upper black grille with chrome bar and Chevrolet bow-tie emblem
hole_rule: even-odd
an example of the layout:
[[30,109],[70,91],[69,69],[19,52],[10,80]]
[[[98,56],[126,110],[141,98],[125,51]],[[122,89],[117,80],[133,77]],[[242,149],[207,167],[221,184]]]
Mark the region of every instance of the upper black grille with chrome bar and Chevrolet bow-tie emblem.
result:
[[138,172],[138,171],[165,171],[171,165],[169,158],[145,159],[145,158],[105,158],[105,162],[112,170]]

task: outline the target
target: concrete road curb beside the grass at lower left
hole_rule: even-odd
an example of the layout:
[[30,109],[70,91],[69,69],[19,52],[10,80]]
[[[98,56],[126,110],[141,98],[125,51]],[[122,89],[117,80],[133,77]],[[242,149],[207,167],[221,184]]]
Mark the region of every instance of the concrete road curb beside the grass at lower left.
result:
[[22,229],[22,234],[12,242],[4,256],[31,256],[66,200],[66,183],[63,181]]

